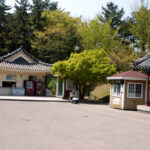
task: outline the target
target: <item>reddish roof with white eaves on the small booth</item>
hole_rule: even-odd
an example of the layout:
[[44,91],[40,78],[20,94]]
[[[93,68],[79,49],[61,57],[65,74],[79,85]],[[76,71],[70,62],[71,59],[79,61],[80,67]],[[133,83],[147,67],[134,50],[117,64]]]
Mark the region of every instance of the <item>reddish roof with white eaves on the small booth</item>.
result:
[[126,72],[122,72],[113,76],[109,76],[108,79],[112,79],[112,78],[140,78],[140,79],[147,79],[147,75],[143,74],[141,72],[138,71],[133,71],[133,70],[129,70]]

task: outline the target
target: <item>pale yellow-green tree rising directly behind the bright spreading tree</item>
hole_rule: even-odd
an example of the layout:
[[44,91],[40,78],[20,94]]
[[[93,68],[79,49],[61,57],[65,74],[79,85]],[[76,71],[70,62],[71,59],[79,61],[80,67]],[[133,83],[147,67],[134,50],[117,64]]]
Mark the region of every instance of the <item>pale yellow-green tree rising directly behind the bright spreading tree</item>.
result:
[[100,49],[111,51],[117,44],[117,29],[112,29],[110,22],[101,23],[98,18],[84,23],[80,30],[84,49]]

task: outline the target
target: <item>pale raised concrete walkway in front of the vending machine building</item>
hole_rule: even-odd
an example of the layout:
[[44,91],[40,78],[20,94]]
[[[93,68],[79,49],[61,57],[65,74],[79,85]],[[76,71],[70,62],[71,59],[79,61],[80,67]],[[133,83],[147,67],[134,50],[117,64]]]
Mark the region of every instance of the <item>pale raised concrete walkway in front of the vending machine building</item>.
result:
[[57,97],[40,96],[0,96],[0,100],[9,101],[38,101],[38,102],[68,102],[68,100]]

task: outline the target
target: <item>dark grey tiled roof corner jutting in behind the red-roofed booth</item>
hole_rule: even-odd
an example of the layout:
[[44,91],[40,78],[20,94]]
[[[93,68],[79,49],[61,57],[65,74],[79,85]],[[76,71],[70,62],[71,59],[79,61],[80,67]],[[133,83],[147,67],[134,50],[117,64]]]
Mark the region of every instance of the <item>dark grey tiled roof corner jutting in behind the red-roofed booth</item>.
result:
[[150,71],[150,53],[135,61],[132,65],[132,69]]

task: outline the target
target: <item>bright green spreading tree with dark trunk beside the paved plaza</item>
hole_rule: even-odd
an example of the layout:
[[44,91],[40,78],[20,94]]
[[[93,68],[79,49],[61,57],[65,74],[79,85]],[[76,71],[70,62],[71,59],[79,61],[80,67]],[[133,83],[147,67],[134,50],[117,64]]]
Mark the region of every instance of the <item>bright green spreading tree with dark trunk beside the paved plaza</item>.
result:
[[101,49],[72,53],[68,60],[55,63],[51,71],[57,77],[73,81],[79,90],[80,99],[84,99],[86,87],[104,81],[115,72],[115,67],[110,63],[106,52]]

